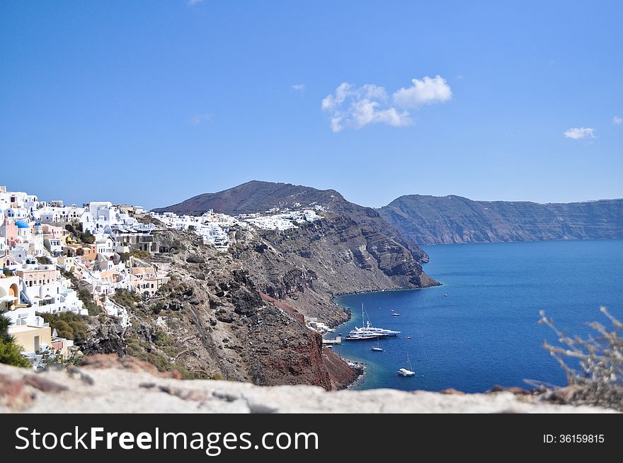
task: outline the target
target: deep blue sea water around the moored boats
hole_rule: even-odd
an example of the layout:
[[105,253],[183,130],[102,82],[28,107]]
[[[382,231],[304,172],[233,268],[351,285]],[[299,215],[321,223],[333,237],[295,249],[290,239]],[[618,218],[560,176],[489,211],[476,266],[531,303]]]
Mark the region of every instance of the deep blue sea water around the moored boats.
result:
[[[370,350],[377,341],[334,347],[367,365],[354,389],[477,392],[494,384],[527,387],[523,379],[564,385],[562,370],[542,347],[556,338],[537,324],[539,310],[581,335],[590,334],[588,321],[610,326],[602,305],[623,319],[623,241],[455,244],[425,251],[430,263],[424,270],[442,286],[338,299],[353,319],[337,333],[361,326],[362,302],[374,326],[401,331],[380,341],[384,352]],[[401,316],[391,316],[391,309]],[[407,366],[407,353],[416,377],[396,375]]]

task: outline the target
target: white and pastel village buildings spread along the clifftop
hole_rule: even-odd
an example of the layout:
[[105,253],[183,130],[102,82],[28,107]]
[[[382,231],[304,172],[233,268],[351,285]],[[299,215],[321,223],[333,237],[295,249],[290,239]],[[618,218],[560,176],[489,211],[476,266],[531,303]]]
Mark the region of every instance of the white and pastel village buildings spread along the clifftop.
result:
[[[229,248],[234,226],[287,230],[319,218],[322,207],[270,210],[232,217],[207,210],[201,216],[156,213],[132,205],[93,201],[64,205],[0,186],[0,314],[11,325],[8,334],[22,348],[33,368],[45,367],[50,354],[71,358],[72,339],[63,338],[46,316],[72,312],[88,316],[78,282],[88,288],[98,314],[130,325],[127,309],[113,300],[118,291],[152,297],[169,278],[150,256],[171,252],[161,246],[157,229],[188,230],[219,251]],[[100,315],[101,316],[101,315]]]

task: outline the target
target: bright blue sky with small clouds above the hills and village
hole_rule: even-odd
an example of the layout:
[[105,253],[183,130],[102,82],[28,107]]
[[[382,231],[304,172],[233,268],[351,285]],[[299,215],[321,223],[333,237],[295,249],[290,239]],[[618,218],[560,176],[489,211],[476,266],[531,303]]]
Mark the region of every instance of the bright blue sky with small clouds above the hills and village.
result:
[[622,23],[621,1],[1,1],[0,184],[621,198]]

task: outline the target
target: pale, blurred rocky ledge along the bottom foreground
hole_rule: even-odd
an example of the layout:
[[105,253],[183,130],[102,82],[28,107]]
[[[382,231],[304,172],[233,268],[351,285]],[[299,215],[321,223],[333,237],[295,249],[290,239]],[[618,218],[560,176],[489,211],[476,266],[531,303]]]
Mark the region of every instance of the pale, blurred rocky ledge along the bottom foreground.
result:
[[4,413],[604,413],[530,394],[331,391],[182,380],[135,358],[93,355],[80,367],[42,373],[0,365]]

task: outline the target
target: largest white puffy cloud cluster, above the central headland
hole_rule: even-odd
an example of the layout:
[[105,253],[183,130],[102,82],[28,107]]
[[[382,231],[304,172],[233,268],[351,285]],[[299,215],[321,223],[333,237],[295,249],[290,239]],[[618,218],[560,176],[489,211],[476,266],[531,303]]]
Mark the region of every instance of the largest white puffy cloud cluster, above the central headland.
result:
[[[413,79],[413,87],[401,88],[391,98],[382,86],[355,86],[344,82],[323,99],[321,107],[323,111],[331,114],[333,132],[340,132],[345,128],[360,129],[370,124],[401,127],[413,123],[407,109],[447,101],[451,96],[450,86],[440,76],[435,76],[434,79],[427,76],[421,81]],[[418,103],[413,104],[413,100]],[[396,108],[392,101],[402,108]]]

